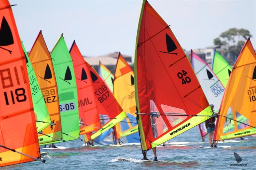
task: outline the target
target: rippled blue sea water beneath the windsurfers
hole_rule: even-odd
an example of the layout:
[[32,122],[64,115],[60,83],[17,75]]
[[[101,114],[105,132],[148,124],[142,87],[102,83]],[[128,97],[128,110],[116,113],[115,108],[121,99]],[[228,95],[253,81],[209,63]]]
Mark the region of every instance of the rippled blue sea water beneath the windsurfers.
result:
[[[9,169],[256,169],[256,136],[244,137],[245,140],[235,139],[219,142],[218,146],[228,148],[198,148],[209,147],[208,143],[201,143],[198,127],[188,130],[170,140],[168,146],[157,147],[158,162],[141,161],[140,144],[122,146],[83,146],[83,141],[75,140],[56,144],[65,146],[61,150],[49,151],[46,162],[39,161],[6,166],[1,170]],[[205,141],[208,140],[208,136]],[[236,152],[242,161],[239,164],[247,166],[230,167],[237,164],[234,157]],[[147,157],[154,159],[152,150]],[[130,162],[117,161],[117,158],[126,158]]]

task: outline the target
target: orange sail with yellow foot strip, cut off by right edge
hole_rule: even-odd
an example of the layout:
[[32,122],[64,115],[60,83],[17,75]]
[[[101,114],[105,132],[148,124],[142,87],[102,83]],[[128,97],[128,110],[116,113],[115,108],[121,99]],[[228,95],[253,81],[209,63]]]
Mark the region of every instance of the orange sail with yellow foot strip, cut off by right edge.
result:
[[225,90],[213,140],[256,134],[256,54],[245,42]]

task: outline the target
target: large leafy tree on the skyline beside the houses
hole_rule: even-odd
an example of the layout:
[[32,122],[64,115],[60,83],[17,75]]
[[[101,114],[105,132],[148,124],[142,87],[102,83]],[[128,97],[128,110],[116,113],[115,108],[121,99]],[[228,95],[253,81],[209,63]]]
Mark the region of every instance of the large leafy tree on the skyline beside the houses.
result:
[[230,28],[227,31],[220,34],[213,40],[214,45],[224,45],[227,47],[227,52],[232,55],[239,54],[244,42],[248,37],[252,37],[250,32],[246,29]]

